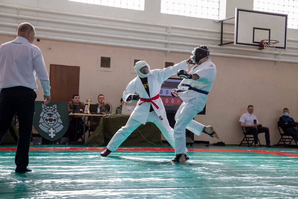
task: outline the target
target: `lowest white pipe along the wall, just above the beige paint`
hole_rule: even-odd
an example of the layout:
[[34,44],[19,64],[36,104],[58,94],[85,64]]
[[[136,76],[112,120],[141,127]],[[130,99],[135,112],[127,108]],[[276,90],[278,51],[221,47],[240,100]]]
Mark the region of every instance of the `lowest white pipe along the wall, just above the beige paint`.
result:
[[[13,32],[5,32],[0,31],[2,35],[13,35]],[[104,42],[104,41],[90,41],[84,39],[72,39],[72,38],[63,38],[63,37],[53,37],[53,36],[39,36],[36,37],[41,39],[49,39],[49,40],[56,40],[56,41],[69,41],[74,43],[84,43],[84,44],[97,44],[97,45],[105,45],[105,46],[115,46],[115,47],[126,47],[126,48],[136,48],[136,49],[143,49],[143,50],[157,50],[163,52],[175,52],[175,53],[187,53],[191,54],[191,50],[181,50],[181,49],[171,49],[171,48],[161,48],[161,47],[149,47],[149,46],[140,46],[140,45],[132,45],[132,44],[119,44],[113,42]],[[298,64],[297,60],[289,60],[289,59],[277,59],[277,58],[267,58],[267,57],[256,57],[256,56],[246,56],[246,55],[231,55],[225,53],[211,53],[212,56],[217,57],[228,57],[228,58],[238,58],[238,59],[249,59],[249,60],[260,60],[260,61],[274,61],[274,62],[283,62],[283,63],[291,63],[291,64]]]

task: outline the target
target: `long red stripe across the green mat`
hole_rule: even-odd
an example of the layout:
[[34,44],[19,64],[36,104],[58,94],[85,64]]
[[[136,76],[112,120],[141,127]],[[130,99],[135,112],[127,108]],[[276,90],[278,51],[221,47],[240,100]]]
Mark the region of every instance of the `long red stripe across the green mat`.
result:
[[[102,147],[30,147],[31,151],[103,151]],[[15,151],[16,147],[0,147],[0,151]],[[189,151],[207,152],[254,152],[270,155],[298,157],[298,153],[267,151],[262,149],[188,149]],[[118,148],[117,151],[174,151],[173,148]]]

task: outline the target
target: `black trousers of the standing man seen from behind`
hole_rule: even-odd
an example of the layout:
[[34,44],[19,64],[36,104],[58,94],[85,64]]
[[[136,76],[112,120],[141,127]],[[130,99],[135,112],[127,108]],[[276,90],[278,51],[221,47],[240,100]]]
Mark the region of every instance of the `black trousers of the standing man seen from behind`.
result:
[[29,148],[35,112],[36,93],[27,87],[4,88],[0,92],[0,141],[11,126],[15,114],[18,116],[18,144],[15,152],[16,170],[29,164]]

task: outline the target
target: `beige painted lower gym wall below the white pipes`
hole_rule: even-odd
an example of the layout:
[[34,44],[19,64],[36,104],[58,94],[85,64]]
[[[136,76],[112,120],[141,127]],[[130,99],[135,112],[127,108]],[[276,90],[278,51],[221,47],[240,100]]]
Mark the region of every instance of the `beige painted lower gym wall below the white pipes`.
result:
[[[14,38],[0,36],[0,42],[2,44]],[[159,51],[45,39],[34,41],[33,44],[41,49],[48,72],[50,64],[80,67],[81,101],[90,98],[95,104],[97,95],[102,93],[114,110],[119,105],[126,85],[136,76],[131,73],[131,57],[147,58],[151,69],[162,68],[164,59],[177,60],[178,63],[189,58],[189,54],[182,53],[167,53],[166,56],[166,53]],[[297,64],[212,57],[212,46],[209,48],[210,58],[217,67],[217,77],[208,95],[206,115],[197,115],[195,120],[214,126],[226,144],[239,144],[243,135],[238,121],[247,106],[252,104],[260,124],[270,129],[271,144],[277,144],[280,138],[277,121],[283,108],[289,108],[290,116],[298,121]],[[114,72],[97,70],[98,53],[114,55]],[[43,100],[40,87],[37,94],[37,100]],[[69,101],[71,98],[69,96]],[[261,143],[265,144],[264,135],[259,137]],[[195,140],[210,141],[211,144],[217,142],[205,134],[195,136]]]

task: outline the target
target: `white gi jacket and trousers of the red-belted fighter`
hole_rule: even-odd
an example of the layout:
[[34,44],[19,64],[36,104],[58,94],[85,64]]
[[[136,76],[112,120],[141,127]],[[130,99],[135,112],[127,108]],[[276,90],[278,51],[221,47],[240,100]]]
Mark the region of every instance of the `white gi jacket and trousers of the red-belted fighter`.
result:
[[[146,92],[141,79],[139,78],[139,76],[137,76],[127,85],[125,91],[123,92],[123,100],[130,103],[131,100],[128,100],[128,97],[135,91],[140,95],[140,98],[154,98],[156,95],[159,94],[162,83],[170,76],[175,75],[180,69],[188,70],[186,61],[182,61],[179,64],[174,65],[173,67],[164,68],[163,70],[151,70],[150,75],[148,76],[150,96]],[[154,102],[158,107],[157,109],[152,103],[152,107],[154,109],[154,111],[152,112],[149,112],[151,103],[142,102],[143,101],[141,101],[141,99],[138,101],[136,108],[131,113],[131,116],[129,117],[126,125],[116,132],[116,134],[107,145],[107,149],[109,149],[110,151],[115,151],[137,127],[139,127],[141,124],[146,124],[146,122],[153,122],[154,124],[156,124],[167,141],[173,147],[175,146],[173,135],[174,130],[170,127],[167,120],[166,111],[164,109],[164,105],[162,104],[162,99],[157,98],[155,100],[152,100],[152,102]],[[186,152],[187,149],[184,146],[183,153]]]

